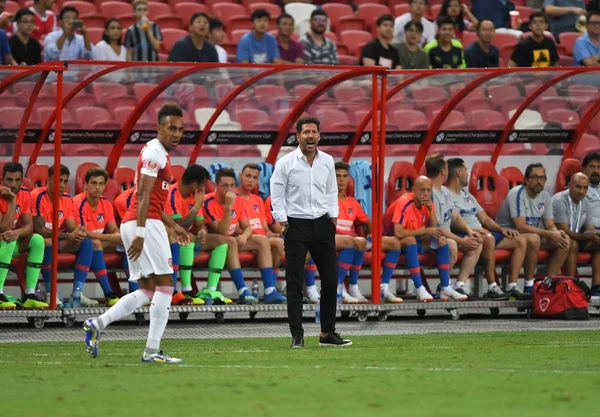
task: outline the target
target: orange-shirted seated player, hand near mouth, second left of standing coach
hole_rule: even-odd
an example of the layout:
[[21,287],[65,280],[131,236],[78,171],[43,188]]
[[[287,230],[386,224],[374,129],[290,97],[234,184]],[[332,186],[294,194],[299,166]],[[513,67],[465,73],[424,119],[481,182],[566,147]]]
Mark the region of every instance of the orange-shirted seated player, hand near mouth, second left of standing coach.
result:
[[[204,197],[204,219],[210,233],[219,233],[223,236],[235,236],[234,245],[227,248],[227,269],[231,279],[240,295],[241,304],[256,304],[258,300],[250,294],[239,260],[240,251],[255,251],[260,274],[263,279],[266,304],[285,303],[286,298],[275,290],[273,280],[273,259],[271,247],[263,237],[252,235],[252,228],[246,214],[246,205],[240,196],[235,195],[235,173],[232,169],[222,168],[215,176],[214,193]],[[236,235],[238,226],[241,234]]]

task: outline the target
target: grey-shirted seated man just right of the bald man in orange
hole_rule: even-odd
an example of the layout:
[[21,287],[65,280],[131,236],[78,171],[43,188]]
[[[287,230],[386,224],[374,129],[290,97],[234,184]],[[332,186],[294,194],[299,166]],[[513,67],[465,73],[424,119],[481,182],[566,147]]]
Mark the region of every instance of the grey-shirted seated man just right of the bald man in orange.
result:
[[[448,179],[448,164],[444,156],[441,153],[430,155],[425,160],[425,168],[433,185],[432,201],[435,207],[435,217],[438,225],[442,228],[444,236],[448,239],[450,270],[458,260],[458,249],[464,252],[454,289],[467,295],[464,285],[473,273],[475,265],[477,265],[483,242],[479,233],[471,230],[458,214],[458,211],[454,210],[452,197],[444,186]],[[457,231],[459,234],[452,233],[452,230]]]

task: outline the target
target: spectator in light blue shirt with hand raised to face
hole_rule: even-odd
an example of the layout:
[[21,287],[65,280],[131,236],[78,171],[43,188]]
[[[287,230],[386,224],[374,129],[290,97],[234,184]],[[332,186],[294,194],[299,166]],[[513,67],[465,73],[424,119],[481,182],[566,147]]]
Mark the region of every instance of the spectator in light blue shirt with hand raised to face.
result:
[[[87,28],[79,20],[76,8],[63,7],[58,15],[61,29],[52,32],[44,39],[44,61],[92,59],[92,43],[87,36]],[[75,33],[79,28],[81,35]]]

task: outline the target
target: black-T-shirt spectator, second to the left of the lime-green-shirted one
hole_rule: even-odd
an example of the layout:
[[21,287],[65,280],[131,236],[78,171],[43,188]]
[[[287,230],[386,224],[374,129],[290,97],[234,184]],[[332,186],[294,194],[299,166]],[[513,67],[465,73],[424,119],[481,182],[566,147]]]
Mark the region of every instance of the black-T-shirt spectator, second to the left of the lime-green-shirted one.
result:
[[363,46],[360,63],[379,65],[387,69],[400,69],[398,50],[390,45],[394,36],[394,18],[384,14],[377,18],[377,37]]

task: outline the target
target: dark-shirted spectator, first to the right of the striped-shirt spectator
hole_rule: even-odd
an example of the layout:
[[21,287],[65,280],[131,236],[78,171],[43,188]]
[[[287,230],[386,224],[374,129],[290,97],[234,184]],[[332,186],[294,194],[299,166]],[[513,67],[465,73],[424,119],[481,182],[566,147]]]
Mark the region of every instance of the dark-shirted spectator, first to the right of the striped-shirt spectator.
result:
[[190,19],[189,34],[171,48],[170,62],[219,62],[215,46],[208,41],[210,18],[206,13],[194,13]]

